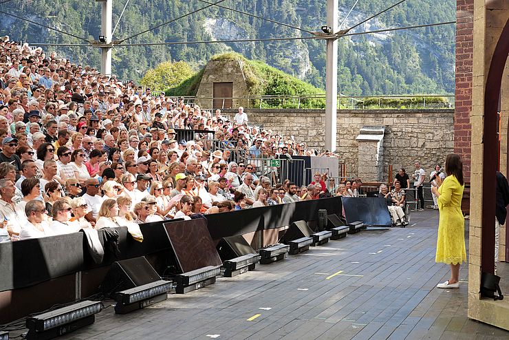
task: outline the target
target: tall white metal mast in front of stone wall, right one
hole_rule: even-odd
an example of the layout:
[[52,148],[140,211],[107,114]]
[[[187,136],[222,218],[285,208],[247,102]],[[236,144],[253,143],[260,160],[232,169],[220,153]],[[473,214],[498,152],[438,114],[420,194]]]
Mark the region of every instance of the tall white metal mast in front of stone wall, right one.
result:
[[[338,32],[338,0],[327,0],[327,26]],[[338,109],[338,37],[327,39],[325,77],[325,149],[336,151],[336,120]]]

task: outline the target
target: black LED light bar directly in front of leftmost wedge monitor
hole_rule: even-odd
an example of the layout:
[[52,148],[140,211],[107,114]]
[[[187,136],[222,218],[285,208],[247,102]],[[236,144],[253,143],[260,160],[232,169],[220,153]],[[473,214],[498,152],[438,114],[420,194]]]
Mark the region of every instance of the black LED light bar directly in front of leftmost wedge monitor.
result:
[[115,312],[126,314],[133,310],[152,306],[160,301],[168,299],[168,291],[173,288],[173,282],[158,280],[150,284],[122,290],[115,293]]

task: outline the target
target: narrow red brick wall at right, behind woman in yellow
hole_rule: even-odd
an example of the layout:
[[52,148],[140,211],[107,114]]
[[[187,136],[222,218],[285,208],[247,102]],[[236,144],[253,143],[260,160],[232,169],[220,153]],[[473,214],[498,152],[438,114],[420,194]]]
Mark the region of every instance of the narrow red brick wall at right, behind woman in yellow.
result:
[[463,173],[470,180],[470,111],[472,110],[473,0],[457,0],[456,99],[454,152],[462,156]]

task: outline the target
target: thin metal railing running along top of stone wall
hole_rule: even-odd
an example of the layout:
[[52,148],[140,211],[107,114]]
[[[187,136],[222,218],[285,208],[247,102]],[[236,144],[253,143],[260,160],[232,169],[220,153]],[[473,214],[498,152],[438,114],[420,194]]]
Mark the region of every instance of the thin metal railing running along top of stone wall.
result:
[[[225,104],[236,100],[242,106],[257,109],[325,109],[325,94],[301,94],[299,96],[239,96],[239,97],[195,97],[185,96],[184,103],[194,104],[221,100],[221,107],[202,109],[229,109]],[[455,96],[438,95],[387,95],[387,96],[345,96],[338,95],[338,109],[453,109]]]

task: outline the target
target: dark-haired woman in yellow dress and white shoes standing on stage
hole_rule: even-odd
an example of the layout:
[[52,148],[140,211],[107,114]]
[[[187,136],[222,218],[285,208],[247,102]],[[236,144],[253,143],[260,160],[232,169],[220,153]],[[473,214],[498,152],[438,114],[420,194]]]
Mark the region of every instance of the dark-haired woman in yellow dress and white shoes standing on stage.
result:
[[440,220],[438,222],[437,254],[435,262],[451,266],[451,278],[437,288],[459,288],[459,265],[466,262],[465,220],[462,213],[462,198],[465,184],[463,181],[463,163],[455,153],[446,157],[447,177],[444,182],[436,176],[437,187],[433,193],[437,196]]

